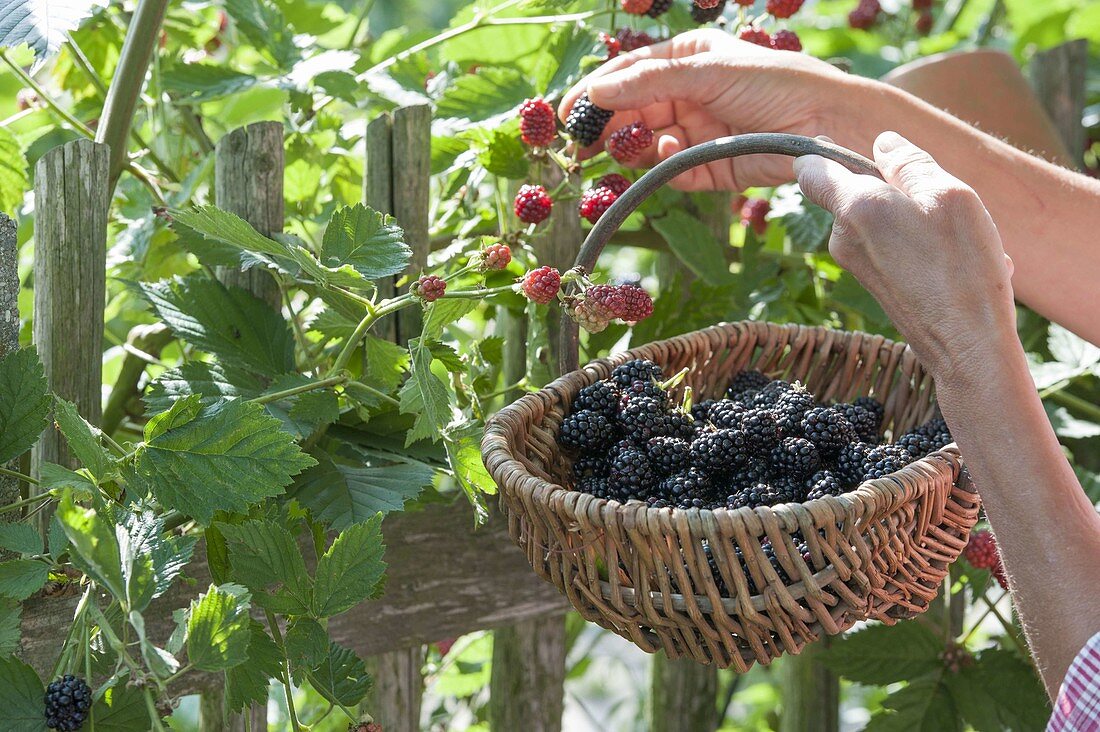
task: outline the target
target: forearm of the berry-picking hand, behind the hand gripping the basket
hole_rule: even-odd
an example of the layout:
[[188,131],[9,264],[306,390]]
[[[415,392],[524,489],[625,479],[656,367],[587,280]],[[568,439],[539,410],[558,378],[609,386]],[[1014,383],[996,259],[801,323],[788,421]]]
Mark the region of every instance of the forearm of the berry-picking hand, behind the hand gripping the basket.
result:
[[[894,130],[981,197],[1015,262],[1021,302],[1082,338],[1100,343],[1100,182],[1023,153],[1012,145],[887,85],[851,79],[853,108],[826,125],[862,153]],[[964,243],[964,242],[960,242]]]

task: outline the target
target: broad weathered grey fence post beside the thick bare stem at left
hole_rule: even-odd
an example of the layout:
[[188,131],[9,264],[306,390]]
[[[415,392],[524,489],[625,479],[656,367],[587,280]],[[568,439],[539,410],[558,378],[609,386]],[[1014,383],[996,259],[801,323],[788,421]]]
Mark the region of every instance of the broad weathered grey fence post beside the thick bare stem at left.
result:
[[[34,342],[50,387],[99,424],[107,298],[107,145],[74,140],[54,148],[34,172]],[[62,434],[47,427],[32,452],[69,465]],[[41,514],[43,526],[52,513]]]

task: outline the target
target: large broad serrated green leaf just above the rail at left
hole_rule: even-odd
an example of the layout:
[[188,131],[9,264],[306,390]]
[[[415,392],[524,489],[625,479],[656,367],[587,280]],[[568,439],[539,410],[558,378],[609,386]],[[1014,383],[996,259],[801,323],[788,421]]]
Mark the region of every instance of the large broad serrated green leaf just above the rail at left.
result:
[[207,525],[217,511],[245,511],[280,494],[315,463],[263,406],[234,400],[140,446],[124,474],[165,507]]

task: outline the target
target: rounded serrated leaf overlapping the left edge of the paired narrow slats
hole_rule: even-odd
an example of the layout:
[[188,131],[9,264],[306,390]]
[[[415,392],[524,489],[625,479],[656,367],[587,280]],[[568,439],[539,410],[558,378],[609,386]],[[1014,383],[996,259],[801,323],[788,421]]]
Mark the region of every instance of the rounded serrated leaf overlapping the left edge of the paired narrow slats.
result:
[[362,204],[338,208],[321,240],[320,262],[339,269],[351,265],[364,280],[405,271],[413,251],[393,217]]

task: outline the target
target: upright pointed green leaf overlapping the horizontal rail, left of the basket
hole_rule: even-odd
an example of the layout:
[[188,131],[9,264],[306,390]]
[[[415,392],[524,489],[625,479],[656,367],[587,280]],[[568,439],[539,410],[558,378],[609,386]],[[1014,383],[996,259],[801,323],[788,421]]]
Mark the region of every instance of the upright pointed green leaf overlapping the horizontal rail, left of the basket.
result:
[[382,515],[340,533],[317,562],[314,615],[331,618],[382,591],[386,562],[382,555]]

